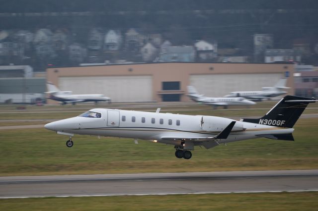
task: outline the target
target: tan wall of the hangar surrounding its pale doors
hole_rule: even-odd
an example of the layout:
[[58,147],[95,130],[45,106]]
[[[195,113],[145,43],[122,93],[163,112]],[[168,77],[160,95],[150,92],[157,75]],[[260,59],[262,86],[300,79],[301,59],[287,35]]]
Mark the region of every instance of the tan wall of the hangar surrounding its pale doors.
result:
[[[163,81],[180,81],[181,90],[186,94],[190,84],[190,74],[231,74],[231,73],[281,73],[290,72],[287,86],[288,94],[294,94],[293,64],[272,63],[153,63],[153,64],[120,64],[101,66],[78,66],[48,68],[47,80],[58,86],[59,77],[63,76],[111,76],[111,75],[152,75],[154,101],[161,101],[159,95]],[[167,93],[167,92],[165,92]],[[182,95],[181,101],[189,101]],[[48,103],[57,103],[49,101]]]

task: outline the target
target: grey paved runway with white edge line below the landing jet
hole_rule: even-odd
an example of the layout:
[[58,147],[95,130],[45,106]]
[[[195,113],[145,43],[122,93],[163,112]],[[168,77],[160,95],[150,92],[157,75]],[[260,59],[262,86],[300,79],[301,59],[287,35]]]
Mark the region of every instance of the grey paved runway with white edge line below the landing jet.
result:
[[318,191],[318,170],[0,177],[0,198]]

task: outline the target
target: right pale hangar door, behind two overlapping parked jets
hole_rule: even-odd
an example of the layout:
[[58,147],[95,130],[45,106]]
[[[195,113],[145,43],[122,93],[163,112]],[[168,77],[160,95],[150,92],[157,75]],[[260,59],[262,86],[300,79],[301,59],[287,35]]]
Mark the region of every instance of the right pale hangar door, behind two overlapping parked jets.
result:
[[223,97],[231,92],[273,87],[282,76],[282,73],[191,74],[190,84],[207,97]]

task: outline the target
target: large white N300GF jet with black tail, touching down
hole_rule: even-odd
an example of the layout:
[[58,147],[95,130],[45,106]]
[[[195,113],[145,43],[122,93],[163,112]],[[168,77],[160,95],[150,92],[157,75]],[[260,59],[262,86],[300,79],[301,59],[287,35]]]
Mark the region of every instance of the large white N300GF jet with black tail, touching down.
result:
[[240,119],[204,115],[144,112],[94,108],[79,116],[51,122],[46,129],[69,135],[66,142],[73,146],[72,136],[96,135],[151,140],[174,145],[177,158],[189,159],[194,146],[206,149],[221,143],[246,139],[269,138],[294,141],[293,126],[309,103],[316,100],[285,96],[263,117]]

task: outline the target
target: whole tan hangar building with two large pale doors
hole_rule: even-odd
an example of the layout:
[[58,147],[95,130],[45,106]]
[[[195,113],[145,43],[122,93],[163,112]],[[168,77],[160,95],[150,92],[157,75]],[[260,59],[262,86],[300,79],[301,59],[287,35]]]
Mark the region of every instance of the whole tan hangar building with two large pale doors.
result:
[[234,91],[272,87],[285,76],[290,87],[286,91],[294,94],[292,63],[125,63],[51,67],[46,72],[47,81],[62,91],[103,94],[112,102],[188,102],[188,85],[205,96],[222,97]]

